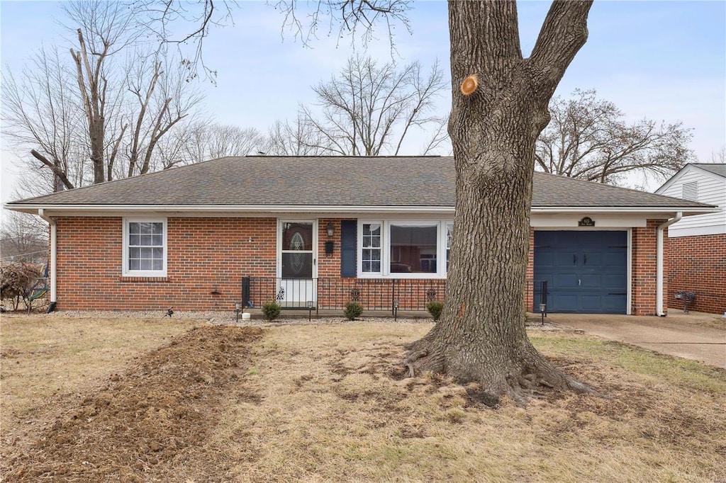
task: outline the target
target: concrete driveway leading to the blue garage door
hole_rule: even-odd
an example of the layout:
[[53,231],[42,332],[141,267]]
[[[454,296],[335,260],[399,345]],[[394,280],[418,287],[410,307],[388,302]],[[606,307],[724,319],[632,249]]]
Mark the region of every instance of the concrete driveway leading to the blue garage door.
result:
[[553,313],[547,315],[547,320],[605,339],[726,369],[726,322],[720,315],[684,314],[669,309],[666,317]]

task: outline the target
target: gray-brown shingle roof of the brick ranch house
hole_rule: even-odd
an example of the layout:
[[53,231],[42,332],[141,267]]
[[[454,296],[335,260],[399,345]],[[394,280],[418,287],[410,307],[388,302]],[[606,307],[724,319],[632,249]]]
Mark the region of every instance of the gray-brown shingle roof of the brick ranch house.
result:
[[[534,207],[704,207],[544,173]],[[18,205],[453,207],[452,157],[226,157],[23,199]]]

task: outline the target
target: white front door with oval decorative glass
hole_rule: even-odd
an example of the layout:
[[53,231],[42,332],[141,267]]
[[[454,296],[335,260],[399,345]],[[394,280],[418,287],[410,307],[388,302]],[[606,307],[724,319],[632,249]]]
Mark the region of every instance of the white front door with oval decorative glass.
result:
[[277,302],[282,307],[308,307],[317,299],[317,223],[281,220],[278,231]]

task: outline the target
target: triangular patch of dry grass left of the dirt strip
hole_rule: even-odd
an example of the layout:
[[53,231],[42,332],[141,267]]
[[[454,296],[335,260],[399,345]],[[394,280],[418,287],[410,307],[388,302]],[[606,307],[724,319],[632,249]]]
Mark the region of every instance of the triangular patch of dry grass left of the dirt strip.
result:
[[[170,318],[0,317],[2,447],[73,406],[126,363],[199,321]],[[0,450],[0,455],[4,450]]]

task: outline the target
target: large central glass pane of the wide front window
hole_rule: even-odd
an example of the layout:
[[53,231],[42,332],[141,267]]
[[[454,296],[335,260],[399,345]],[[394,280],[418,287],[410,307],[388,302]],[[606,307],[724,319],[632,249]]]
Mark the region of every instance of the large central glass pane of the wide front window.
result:
[[436,273],[436,226],[391,225],[391,273]]

